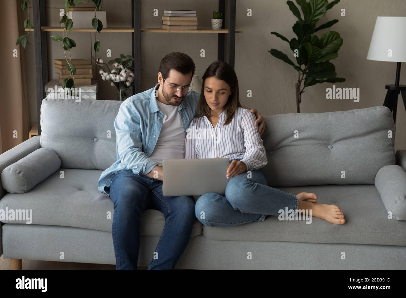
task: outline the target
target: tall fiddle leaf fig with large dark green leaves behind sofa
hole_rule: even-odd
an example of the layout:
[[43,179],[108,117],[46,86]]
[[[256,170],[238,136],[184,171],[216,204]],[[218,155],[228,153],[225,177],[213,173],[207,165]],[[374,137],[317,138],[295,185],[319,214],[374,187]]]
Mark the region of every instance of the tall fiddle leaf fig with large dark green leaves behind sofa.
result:
[[340,0],[332,2],[328,2],[328,0],[310,0],[309,2],[306,0],[296,0],[302,11],[301,14],[294,2],[289,0],[286,4],[298,19],[292,27],[296,37],[289,41],[289,39],[278,32],[271,32],[271,34],[289,43],[289,47],[296,58],[297,64],[277,49],[268,51],[272,56],[291,65],[298,72],[298,82],[295,84],[296,109],[298,113],[300,113],[300,103],[302,102],[304,88],[324,82],[339,83],[346,80],[342,77],[337,77],[335,66],[330,62],[330,60],[338,57],[337,52],[343,44],[340,34],[335,31],[328,31],[320,37],[315,34],[315,32],[330,28],[338,22],[337,19],[334,19],[317,26],[317,22],[338,2]]

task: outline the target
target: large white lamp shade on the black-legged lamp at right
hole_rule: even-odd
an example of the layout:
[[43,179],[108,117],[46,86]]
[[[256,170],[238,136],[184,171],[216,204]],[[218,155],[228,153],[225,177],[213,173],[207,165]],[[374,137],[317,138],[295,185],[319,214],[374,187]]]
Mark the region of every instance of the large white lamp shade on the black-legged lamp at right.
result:
[[368,60],[406,62],[406,17],[377,17]]

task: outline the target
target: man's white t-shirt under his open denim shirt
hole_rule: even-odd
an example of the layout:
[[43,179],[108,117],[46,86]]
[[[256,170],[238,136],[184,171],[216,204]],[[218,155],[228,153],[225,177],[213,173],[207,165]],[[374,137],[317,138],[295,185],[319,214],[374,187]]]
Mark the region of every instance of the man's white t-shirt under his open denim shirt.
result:
[[162,166],[164,159],[185,158],[185,129],[179,116],[178,106],[165,105],[155,99],[164,113],[162,129],[150,159]]

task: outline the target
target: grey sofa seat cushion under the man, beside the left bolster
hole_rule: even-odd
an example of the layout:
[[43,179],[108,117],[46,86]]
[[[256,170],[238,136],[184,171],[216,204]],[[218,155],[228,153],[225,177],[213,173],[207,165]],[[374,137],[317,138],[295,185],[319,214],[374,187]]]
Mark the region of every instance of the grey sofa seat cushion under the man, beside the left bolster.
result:
[[[60,178],[60,171],[64,177]],[[0,209],[32,209],[32,224],[80,227],[111,232],[113,202],[97,190],[103,171],[97,169],[60,168],[27,193],[7,193],[0,200]],[[111,214],[111,219],[108,218]],[[27,223],[2,220],[3,223]],[[141,216],[141,235],[160,236],[165,218],[162,212],[148,209]],[[202,225],[196,219],[192,237],[200,235]]]

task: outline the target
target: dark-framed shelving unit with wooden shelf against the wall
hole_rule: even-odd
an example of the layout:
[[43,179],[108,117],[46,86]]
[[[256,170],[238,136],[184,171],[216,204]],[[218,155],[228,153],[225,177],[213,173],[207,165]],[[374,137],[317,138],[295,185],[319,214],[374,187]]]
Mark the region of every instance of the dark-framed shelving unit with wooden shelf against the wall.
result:
[[[37,69],[37,115],[41,117],[41,103],[45,98],[45,85],[48,77],[48,41],[46,32],[63,32],[63,27],[46,26],[45,0],[32,1],[34,29],[26,29],[34,32],[35,66]],[[195,33],[195,34],[218,34],[217,38],[217,59],[224,61],[227,52],[227,63],[234,67],[235,58],[235,33],[242,31],[235,30],[235,0],[228,0],[227,5],[227,29],[225,21],[222,29],[212,30],[210,28],[199,28],[197,30],[165,30],[161,28],[141,27],[141,0],[131,0],[132,27],[129,28],[103,28],[103,32],[127,32],[132,33],[132,54],[134,57],[134,94],[141,92],[141,33]],[[226,15],[225,0],[218,0],[218,11]],[[95,32],[95,29],[73,28],[73,32]],[[225,49],[225,34],[228,35],[227,49]],[[41,135],[41,125],[38,125],[38,135]]]

